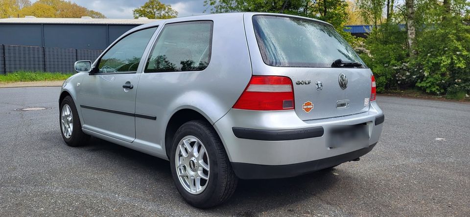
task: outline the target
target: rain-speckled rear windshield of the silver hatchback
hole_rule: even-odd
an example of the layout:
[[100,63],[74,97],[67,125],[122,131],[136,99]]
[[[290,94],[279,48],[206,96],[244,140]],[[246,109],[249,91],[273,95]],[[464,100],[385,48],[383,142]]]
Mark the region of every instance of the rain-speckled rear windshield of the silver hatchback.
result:
[[330,68],[337,60],[364,63],[327,24],[299,18],[257,15],[253,25],[264,63],[278,67]]

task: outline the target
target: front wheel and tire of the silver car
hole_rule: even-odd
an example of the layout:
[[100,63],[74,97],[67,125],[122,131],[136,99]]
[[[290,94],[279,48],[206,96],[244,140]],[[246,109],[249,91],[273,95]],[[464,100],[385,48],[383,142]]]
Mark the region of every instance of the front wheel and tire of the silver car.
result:
[[[60,103],[59,109],[60,132],[65,143],[72,147],[86,145],[90,140],[90,136],[82,131],[82,125],[72,97],[66,96]],[[69,128],[66,127],[67,125]]]

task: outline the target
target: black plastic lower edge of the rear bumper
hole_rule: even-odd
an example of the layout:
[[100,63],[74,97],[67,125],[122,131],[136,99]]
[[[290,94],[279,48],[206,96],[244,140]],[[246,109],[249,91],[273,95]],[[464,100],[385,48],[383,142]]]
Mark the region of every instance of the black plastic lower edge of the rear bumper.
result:
[[294,177],[321,169],[327,169],[348,161],[355,160],[369,153],[369,151],[371,151],[376,144],[377,143],[346,154],[298,164],[259,165],[232,162],[232,168],[234,169],[238,178],[241,179],[273,179]]

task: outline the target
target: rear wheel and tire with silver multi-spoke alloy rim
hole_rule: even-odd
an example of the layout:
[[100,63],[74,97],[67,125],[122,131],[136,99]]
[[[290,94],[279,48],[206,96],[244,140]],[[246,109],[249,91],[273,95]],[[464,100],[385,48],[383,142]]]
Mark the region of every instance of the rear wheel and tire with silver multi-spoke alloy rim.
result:
[[[196,141],[191,142],[191,140]],[[194,168],[194,171],[199,174],[199,170],[202,170],[203,172],[206,171],[201,169],[204,168],[203,165],[209,167],[208,174],[205,174],[208,177],[208,180],[206,181],[206,186],[202,192],[197,193],[197,182],[192,182],[192,179],[189,178],[189,173],[193,172],[193,170],[191,170],[193,169],[190,162],[191,160],[188,161],[189,163],[185,161],[187,164],[177,167],[177,161],[183,162],[181,159],[185,158],[183,153],[186,152],[188,155],[188,157],[186,157],[187,159],[191,156],[191,151],[188,151],[188,148],[183,148],[184,152],[182,152],[182,147],[184,146],[183,141],[189,141],[189,146],[192,145],[192,152],[195,153],[195,150],[199,149],[197,151],[198,157],[201,152],[205,152],[206,154],[204,155],[203,153],[201,156],[203,163],[199,163],[199,165]],[[198,144],[196,146],[196,142],[202,143],[203,145]],[[205,148],[205,151],[201,151],[203,147]],[[193,158],[195,156],[196,155],[192,155]],[[197,161],[199,160],[195,159],[195,162]],[[209,164],[204,163],[206,161]],[[182,165],[183,163],[178,164]],[[235,192],[238,178],[232,169],[232,165],[227,157],[224,145],[222,144],[219,136],[211,124],[206,121],[188,121],[176,131],[170,152],[170,166],[171,174],[178,192],[190,205],[194,207],[204,209],[220,205],[229,199]],[[186,172],[186,174],[183,174],[184,172]],[[204,178],[201,178],[202,176],[198,176],[199,175],[195,175],[195,178],[193,177],[193,179],[197,180],[197,178],[199,178],[199,182],[203,183]],[[180,177],[182,177],[181,180]],[[194,187],[194,192],[192,192],[193,189],[188,183],[193,183],[192,187],[196,186]]]

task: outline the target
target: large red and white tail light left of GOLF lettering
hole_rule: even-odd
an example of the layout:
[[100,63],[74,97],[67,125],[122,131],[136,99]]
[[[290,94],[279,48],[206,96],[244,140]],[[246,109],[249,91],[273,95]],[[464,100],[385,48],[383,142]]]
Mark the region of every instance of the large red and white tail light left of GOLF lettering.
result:
[[233,108],[262,111],[294,109],[292,80],[284,76],[252,76]]

